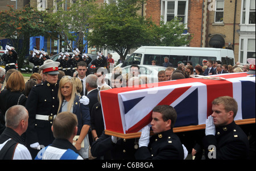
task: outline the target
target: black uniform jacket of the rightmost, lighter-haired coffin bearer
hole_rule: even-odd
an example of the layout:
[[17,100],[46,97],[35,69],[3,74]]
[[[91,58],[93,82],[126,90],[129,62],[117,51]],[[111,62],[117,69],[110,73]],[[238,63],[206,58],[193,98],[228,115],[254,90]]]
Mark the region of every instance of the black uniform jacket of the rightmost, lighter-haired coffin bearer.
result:
[[[234,121],[227,126],[216,127],[215,136],[205,136],[203,144],[206,159],[249,159],[249,141],[246,134]],[[214,147],[216,148],[214,149]]]

